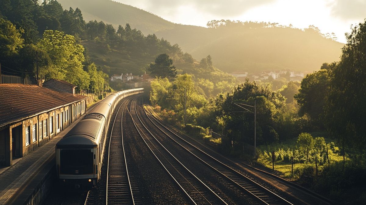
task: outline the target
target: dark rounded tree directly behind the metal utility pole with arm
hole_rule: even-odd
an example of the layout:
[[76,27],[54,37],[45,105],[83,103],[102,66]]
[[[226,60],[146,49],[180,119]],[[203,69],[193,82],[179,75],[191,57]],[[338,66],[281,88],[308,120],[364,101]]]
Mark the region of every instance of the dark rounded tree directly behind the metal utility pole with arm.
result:
[[[250,105],[256,101],[257,105],[257,142],[269,143],[279,140],[279,135],[275,129],[279,110],[285,105],[285,98],[272,88],[264,85],[257,85],[255,82],[247,80],[238,85],[232,94],[228,94],[224,104],[221,105],[223,113],[229,115],[231,119],[227,121],[227,130],[231,130],[228,136],[237,142],[252,143],[254,141],[254,115],[253,113],[240,113],[243,111],[234,103],[249,102]],[[254,112],[252,107],[251,112]],[[240,128],[240,129],[238,129]]]

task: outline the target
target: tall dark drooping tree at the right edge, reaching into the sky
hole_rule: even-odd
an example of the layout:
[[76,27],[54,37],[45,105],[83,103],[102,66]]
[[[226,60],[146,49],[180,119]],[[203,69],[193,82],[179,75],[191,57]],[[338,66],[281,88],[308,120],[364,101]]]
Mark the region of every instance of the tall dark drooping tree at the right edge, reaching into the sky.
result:
[[341,60],[330,65],[327,128],[343,148],[365,151],[366,143],[366,19],[346,34]]

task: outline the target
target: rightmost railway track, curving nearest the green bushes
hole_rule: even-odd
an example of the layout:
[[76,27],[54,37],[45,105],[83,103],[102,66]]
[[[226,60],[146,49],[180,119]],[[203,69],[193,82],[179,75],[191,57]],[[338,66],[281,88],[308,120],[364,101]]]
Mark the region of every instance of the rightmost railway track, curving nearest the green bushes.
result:
[[[143,106],[142,106],[143,107]],[[188,151],[190,154],[195,156],[199,161],[203,162],[207,166],[209,166],[212,170],[219,173],[223,178],[227,179],[239,189],[242,189],[244,192],[248,193],[250,196],[255,198],[258,202],[263,204],[291,204],[291,202],[285,200],[281,196],[273,193],[271,190],[267,189],[266,187],[260,185],[259,183],[255,182],[253,179],[243,175],[239,171],[233,169],[232,167],[220,162],[210,154],[207,154],[205,151],[202,151],[198,147],[194,146],[193,144],[187,142],[185,139],[181,138],[180,136],[176,135],[172,132],[169,128],[161,124],[154,116],[144,108],[143,112],[146,115],[146,118],[158,128],[161,132],[163,132],[168,138],[172,139],[173,142],[178,144],[184,150]],[[165,131],[164,131],[165,130]],[[168,134],[168,133],[169,134]]]

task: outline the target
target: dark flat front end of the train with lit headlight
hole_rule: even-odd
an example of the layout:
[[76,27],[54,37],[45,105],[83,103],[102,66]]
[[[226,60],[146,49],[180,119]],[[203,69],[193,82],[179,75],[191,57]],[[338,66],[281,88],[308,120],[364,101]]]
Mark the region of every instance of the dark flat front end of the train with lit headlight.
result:
[[98,181],[97,143],[90,136],[67,136],[56,144],[56,170],[65,189],[91,189]]

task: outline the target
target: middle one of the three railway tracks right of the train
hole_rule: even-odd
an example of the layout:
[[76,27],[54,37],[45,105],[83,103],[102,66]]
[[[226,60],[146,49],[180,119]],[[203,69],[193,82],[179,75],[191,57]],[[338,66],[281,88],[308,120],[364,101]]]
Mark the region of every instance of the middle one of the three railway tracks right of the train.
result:
[[159,142],[138,116],[136,98],[133,101],[130,114],[141,138],[191,201],[194,204],[227,204]]

